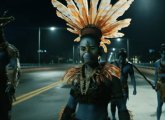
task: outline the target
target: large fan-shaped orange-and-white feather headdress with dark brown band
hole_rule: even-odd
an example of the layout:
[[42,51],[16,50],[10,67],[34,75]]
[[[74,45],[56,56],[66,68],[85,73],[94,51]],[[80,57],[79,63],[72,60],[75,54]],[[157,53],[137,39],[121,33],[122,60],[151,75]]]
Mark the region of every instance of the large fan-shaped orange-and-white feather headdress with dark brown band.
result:
[[79,42],[82,35],[94,34],[100,38],[100,45],[107,52],[105,44],[110,44],[108,38],[124,36],[119,30],[128,27],[131,19],[117,21],[117,18],[133,1],[119,0],[112,6],[111,0],[100,0],[100,4],[99,0],[90,0],[90,7],[88,0],[66,0],[67,6],[52,0],[52,4],[57,8],[57,16],[67,22],[67,30],[79,35],[74,41]]

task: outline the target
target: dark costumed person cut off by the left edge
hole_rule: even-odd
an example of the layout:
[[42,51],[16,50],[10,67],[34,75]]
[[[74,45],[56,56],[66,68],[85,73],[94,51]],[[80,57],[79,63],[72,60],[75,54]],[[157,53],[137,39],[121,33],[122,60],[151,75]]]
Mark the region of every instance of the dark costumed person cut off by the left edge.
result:
[[[5,14],[0,17],[0,120],[11,119],[12,101],[20,70],[18,49],[9,44],[4,36],[4,27],[13,19]],[[10,73],[7,66],[11,68]]]

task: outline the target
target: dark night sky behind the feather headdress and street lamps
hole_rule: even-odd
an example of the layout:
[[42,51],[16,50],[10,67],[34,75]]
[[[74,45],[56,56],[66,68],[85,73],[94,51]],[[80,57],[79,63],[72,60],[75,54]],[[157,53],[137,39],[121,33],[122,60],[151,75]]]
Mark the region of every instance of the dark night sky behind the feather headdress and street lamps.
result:
[[[62,1],[65,4],[64,0]],[[112,0],[114,3],[117,0]],[[159,50],[165,42],[165,0],[135,0],[130,9],[119,19],[132,18],[131,25],[122,32],[130,41],[130,55],[147,56],[149,49]],[[41,27],[41,49],[47,50],[42,57],[54,59],[57,56],[72,55],[73,39],[66,31],[65,22],[56,17],[51,0],[1,0],[0,14],[9,10],[15,22],[5,29],[6,39],[13,43],[21,54],[22,62],[37,61],[38,28]],[[48,28],[57,27],[55,31]],[[110,47],[126,44],[112,40]]]

